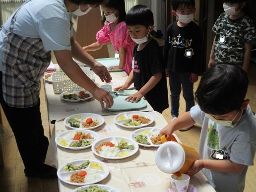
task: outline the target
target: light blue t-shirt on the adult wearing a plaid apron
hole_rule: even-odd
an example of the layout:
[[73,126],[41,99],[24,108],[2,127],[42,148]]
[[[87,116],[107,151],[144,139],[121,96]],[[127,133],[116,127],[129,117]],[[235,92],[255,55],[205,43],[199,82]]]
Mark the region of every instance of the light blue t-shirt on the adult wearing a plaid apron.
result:
[[[6,30],[9,30],[13,14],[3,25]],[[41,38],[45,50],[71,50],[71,25],[71,13],[67,12],[64,0],[30,0],[18,11],[13,33],[23,37]],[[0,71],[4,38],[6,36],[1,30]]]

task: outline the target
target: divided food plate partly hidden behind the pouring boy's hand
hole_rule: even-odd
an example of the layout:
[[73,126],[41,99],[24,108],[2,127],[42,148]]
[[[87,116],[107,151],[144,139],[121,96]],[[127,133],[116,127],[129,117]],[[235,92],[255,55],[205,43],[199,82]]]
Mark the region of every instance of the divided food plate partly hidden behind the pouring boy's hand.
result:
[[[131,133],[131,139],[143,147],[159,147],[163,144],[158,136],[161,129],[152,127],[139,128]],[[178,137],[175,134],[173,135],[178,140]]]

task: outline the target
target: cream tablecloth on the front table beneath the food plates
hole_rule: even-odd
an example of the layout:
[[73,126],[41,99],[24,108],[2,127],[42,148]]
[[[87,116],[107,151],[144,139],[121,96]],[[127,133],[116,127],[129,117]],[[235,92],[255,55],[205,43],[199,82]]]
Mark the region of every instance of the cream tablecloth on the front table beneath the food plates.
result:
[[[167,125],[164,117],[158,112],[149,112],[154,117],[154,123],[150,127],[163,128]],[[130,137],[134,129],[122,128],[115,125],[114,116],[104,116],[103,126],[94,129],[101,138],[108,136]],[[79,159],[96,159],[103,161],[110,168],[109,176],[100,182],[113,186],[121,192],[167,192],[170,187],[170,174],[160,171],[155,163],[155,152],[157,148],[139,147],[137,153],[122,160],[107,160],[94,155],[90,148],[84,150],[69,150],[57,147],[54,142],[55,135],[66,131],[63,121],[56,122],[55,134],[53,134],[47,153],[46,163],[61,167],[69,161]],[[198,192],[215,192],[208,183],[202,172],[192,176],[191,184]],[[60,192],[71,192],[77,186],[65,184],[59,180]]]

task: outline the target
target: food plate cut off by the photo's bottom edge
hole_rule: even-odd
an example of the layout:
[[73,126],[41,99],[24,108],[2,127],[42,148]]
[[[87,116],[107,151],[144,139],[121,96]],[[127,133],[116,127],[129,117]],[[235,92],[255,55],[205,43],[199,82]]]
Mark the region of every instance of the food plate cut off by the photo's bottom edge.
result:
[[77,188],[72,192],[120,192],[120,191],[107,185],[88,185],[88,186]]

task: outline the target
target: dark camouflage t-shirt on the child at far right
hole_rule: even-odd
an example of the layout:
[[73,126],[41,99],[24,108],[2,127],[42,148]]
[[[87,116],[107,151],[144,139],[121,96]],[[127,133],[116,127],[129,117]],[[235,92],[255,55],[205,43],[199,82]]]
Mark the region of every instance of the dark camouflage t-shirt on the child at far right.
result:
[[245,44],[256,41],[252,19],[244,15],[232,20],[226,13],[222,13],[212,27],[212,31],[216,34],[214,64],[232,63],[242,66]]

